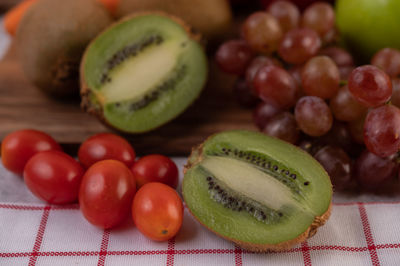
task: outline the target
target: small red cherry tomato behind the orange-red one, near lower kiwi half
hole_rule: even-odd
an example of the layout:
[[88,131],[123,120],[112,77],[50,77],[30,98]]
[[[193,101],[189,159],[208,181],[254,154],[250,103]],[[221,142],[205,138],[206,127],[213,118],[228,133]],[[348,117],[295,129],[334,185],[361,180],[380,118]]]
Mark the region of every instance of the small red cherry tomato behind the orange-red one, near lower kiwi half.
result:
[[152,154],[140,158],[132,166],[138,188],[150,182],[160,182],[172,188],[178,186],[178,167],[170,158]]

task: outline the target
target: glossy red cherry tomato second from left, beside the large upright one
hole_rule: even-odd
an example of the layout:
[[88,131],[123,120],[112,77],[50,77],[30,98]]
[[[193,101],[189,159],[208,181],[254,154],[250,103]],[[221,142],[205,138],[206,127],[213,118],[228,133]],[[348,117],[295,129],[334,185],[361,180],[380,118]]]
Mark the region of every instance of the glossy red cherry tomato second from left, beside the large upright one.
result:
[[60,151],[35,154],[24,169],[25,184],[37,197],[52,204],[78,200],[83,167]]

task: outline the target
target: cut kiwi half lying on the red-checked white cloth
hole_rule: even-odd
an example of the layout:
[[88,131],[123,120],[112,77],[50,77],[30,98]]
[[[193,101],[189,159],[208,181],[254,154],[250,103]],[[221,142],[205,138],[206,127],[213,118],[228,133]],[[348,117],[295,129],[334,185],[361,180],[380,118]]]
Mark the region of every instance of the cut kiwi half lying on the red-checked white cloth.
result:
[[329,218],[332,184],[303,150],[251,131],[226,131],[195,148],[183,198],[209,230],[250,251],[284,250]]

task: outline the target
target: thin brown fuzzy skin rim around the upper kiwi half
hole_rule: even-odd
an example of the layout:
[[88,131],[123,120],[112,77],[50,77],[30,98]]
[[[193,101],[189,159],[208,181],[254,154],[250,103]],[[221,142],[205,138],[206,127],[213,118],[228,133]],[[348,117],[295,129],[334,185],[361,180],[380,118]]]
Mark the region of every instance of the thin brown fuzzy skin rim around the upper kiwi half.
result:
[[[104,29],[102,33],[108,31],[110,28],[112,28],[112,27],[114,27],[114,26],[116,26],[116,25],[118,25],[118,24],[120,24],[120,23],[123,23],[123,22],[125,22],[125,21],[130,20],[130,19],[133,19],[133,18],[135,18],[135,17],[146,16],[146,15],[159,15],[159,16],[164,16],[164,17],[167,17],[167,18],[169,18],[169,19],[175,21],[177,24],[181,25],[181,26],[185,29],[185,31],[187,32],[187,34],[189,35],[189,37],[190,37],[192,40],[199,42],[199,43],[202,44],[203,47],[204,47],[204,45],[205,45],[205,40],[203,39],[203,37],[202,37],[202,35],[201,35],[200,33],[193,31],[192,27],[191,27],[189,24],[187,24],[185,21],[183,21],[182,19],[180,19],[180,18],[178,18],[178,17],[175,17],[175,16],[172,16],[172,15],[170,15],[170,14],[167,14],[167,13],[165,13],[165,12],[161,12],[161,11],[137,12],[137,13],[131,14],[131,15],[129,15],[129,16],[126,16],[126,17],[122,18],[122,19],[119,20],[119,21],[114,22],[114,23],[111,24],[109,27],[107,27],[106,29]],[[102,33],[100,33],[98,36],[100,36]],[[98,38],[98,37],[97,37],[97,38]],[[124,130],[119,129],[119,128],[115,128],[112,124],[108,123],[108,121],[107,121],[106,118],[104,117],[103,108],[102,108],[100,105],[93,105],[93,103],[92,103],[91,100],[90,100],[90,98],[91,98],[91,96],[92,96],[92,91],[91,91],[92,89],[89,87],[89,85],[87,84],[87,82],[86,82],[86,80],[85,80],[84,65],[85,65],[86,60],[87,60],[87,54],[88,54],[89,47],[92,45],[92,43],[96,42],[97,38],[93,39],[93,40],[89,43],[89,45],[86,47],[86,50],[85,50],[85,52],[84,52],[84,54],[83,54],[82,61],[81,61],[81,65],[80,65],[80,84],[81,84],[80,95],[81,95],[81,108],[82,108],[85,112],[87,112],[87,113],[89,113],[89,114],[91,114],[91,115],[96,116],[105,126],[109,127],[110,129],[116,130],[116,131],[119,131],[119,132],[123,132],[123,133],[126,133],[126,134],[132,134],[132,132],[124,131]],[[193,101],[193,102],[194,102],[194,101]],[[159,125],[158,127],[153,128],[153,129],[151,129],[151,130],[149,130],[149,131],[155,130],[155,129],[157,129],[157,128],[159,128],[159,127],[161,127],[161,126],[167,124],[168,122],[170,122],[170,121],[173,120],[173,119],[174,119],[174,117],[171,118],[169,121],[166,121],[164,124],[161,124],[161,125]],[[140,133],[147,133],[147,132],[149,132],[149,131],[140,132]],[[140,133],[135,133],[135,134],[140,134]]]

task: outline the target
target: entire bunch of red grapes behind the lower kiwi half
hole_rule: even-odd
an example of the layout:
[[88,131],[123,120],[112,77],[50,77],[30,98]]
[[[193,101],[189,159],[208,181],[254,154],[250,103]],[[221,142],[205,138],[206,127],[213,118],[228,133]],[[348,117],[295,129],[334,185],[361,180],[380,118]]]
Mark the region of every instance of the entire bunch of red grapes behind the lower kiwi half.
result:
[[239,77],[243,105],[261,100],[254,122],[262,132],[311,153],[335,189],[375,190],[399,175],[400,51],[382,49],[355,67],[338,38],[330,4],[301,14],[275,1],[244,21],[241,39],[223,43],[216,61]]

